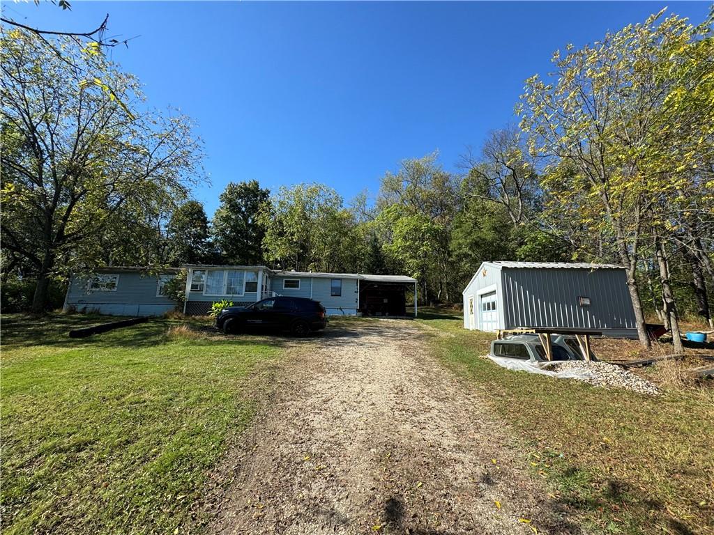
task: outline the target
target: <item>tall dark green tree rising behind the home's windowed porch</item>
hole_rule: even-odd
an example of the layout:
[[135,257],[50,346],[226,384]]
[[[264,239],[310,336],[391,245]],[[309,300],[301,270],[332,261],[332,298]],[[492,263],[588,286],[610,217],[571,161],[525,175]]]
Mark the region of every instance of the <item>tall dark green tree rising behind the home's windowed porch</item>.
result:
[[261,188],[256,180],[231,182],[220,199],[212,232],[223,261],[234,265],[263,263],[265,229],[259,215],[270,199],[270,191]]

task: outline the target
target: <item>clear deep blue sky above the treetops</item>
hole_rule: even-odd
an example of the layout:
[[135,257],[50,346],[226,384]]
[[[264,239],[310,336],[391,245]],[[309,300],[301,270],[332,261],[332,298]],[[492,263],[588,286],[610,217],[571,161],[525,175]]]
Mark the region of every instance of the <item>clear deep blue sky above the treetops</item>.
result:
[[[523,80],[555,49],[643,21],[660,2],[104,2],[71,11],[3,2],[4,16],[48,29],[139,35],[114,60],[149,103],[198,122],[211,185],[319,182],[346,201],[376,194],[403,158],[438,150],[454,170],[467,145],[515,121]],[[702,21],[708,2],[669,12]]]

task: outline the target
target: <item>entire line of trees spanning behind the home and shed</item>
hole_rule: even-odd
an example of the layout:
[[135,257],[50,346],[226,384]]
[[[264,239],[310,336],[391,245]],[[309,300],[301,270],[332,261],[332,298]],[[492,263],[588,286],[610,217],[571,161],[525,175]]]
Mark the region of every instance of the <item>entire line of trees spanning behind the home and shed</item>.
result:
[[[714,11],[650,16],[525,82],[514,123],[464,151],[402,161],[376,199],[326,185],[229,183],[208,218],[190,119],[146,109],[101,49],[13,29],[2,51],[2,277],[32,308],[98,265],[265,264],[404,273],[426,303],[461,302],[483,260],[617,263],[643,345],[645,315],[679,341],[710,320],[714,284]],[[58,45],[57,43],[60,43]]]

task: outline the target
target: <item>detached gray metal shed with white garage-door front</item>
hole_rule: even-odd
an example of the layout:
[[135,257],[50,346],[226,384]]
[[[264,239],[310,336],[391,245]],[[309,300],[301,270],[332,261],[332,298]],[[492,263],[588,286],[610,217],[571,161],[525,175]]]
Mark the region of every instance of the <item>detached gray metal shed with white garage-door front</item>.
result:
[[637,338],[625,270],[612,264],[484,262],[463,290],[463,326],[560,327]]

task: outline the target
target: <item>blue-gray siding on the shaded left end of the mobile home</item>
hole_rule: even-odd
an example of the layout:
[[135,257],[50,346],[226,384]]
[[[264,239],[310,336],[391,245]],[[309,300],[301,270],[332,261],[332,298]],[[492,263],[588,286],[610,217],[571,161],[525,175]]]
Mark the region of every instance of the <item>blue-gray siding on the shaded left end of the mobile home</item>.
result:
[[104,272],[119,275],[116,291],[89,292],[86,277],[71,277],[66,305],[77,310],[96,311],[110,315],[160,315],[176,307],[176,302],[156,295],[157,275],[139,272]]

